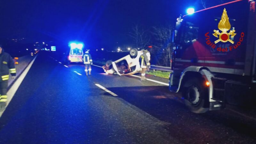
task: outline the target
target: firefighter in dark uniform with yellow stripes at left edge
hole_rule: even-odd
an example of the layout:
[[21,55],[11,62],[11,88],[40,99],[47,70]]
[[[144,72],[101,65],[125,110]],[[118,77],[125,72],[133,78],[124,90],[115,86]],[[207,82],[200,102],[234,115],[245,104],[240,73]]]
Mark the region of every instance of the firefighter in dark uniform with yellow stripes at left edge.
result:
[[12,57],[9,53],[4,52],[0,44],[0,111],[4,111],[6,107],[9,72],[11,73],[12,79],[14,79],[16,68]]

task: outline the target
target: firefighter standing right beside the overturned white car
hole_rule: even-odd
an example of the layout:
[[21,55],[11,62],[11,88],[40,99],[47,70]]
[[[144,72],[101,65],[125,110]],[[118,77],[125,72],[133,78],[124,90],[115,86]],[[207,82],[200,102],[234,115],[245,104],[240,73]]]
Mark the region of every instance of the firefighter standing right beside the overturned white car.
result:
[[140,56],[140,68],[142,68],[141,71],[141,81],[145,81],[146,80],[146,71],[149,71],[150,68],[150,53],[148,52],[148,50],[143,50],[143,54]]

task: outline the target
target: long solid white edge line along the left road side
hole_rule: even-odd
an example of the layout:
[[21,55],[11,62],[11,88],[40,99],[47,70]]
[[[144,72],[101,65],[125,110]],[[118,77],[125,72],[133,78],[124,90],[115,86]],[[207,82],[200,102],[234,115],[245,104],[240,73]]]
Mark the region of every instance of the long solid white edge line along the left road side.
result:
[[[36,57],[37,56],[38,55],[36,55]],[[36,57],[28,64],[28,67],[22,72],[22,74],[20,74],[19,78],[13,83],[12,87],[7,92],[8,97],[7,97],[7,101],[6,101],[6,108],[7,108],[8,104],[10,103],[10,101],[12,100],[12,97],[14,96],[14,94],[16,93],[18,88],[20,87],[20,84],[22,83],[23,79],[28,74],[28,71],[31,68],[31,66],[33,65],[34,61],[36,60]],[[3,115],[4,111],[0,112],[0,117]]]

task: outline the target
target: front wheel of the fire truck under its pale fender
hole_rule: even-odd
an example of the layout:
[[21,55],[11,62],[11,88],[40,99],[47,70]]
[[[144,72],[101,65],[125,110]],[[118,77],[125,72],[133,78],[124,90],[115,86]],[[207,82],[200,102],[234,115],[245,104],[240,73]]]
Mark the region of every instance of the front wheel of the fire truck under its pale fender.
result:
[[193,113],[205,113],[207,108],[207,88],[199,78],[188,79],[183,87],[183,98],[187,108]]

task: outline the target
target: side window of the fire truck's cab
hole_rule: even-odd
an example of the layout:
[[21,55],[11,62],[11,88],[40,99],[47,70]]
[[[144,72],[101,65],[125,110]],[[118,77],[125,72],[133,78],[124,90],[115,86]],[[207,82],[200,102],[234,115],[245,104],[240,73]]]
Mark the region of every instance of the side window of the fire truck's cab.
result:
[[193,42],[197,38],[198,38],[198,27],[196,27],[193,23],[187,21],[185,36],[184,36],[185,43]]

